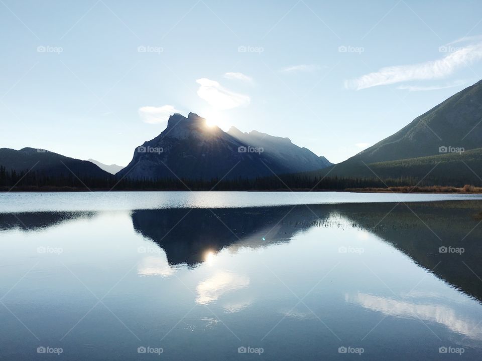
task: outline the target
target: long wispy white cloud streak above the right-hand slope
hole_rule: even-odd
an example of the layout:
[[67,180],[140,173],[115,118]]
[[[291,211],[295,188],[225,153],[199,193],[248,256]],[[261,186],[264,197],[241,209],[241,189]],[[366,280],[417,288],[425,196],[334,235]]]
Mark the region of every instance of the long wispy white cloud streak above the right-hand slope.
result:
[[382,68],[377,72],[345,81],[347,89],[366,89],[377,85],[387,85],[410,80],[443,78],[464,65],[482,59],[482,43],[456,48],[441,59],[412,65],[399,65]]

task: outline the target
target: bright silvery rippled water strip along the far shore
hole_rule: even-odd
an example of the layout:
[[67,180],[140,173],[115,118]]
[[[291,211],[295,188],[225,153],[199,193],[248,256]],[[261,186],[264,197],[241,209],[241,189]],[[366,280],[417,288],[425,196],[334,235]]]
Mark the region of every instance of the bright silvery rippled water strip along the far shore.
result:
[[348,192],[0,193],[0,212],[235,208],[303,204],[482,200],[482,195]]

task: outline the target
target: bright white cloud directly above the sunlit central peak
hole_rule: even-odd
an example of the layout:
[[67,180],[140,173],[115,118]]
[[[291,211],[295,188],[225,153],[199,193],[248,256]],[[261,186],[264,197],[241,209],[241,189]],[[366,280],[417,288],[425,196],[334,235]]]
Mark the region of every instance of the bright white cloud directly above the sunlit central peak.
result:
[[200,85],[197,90],[199,98],[207,101],[209,105],[219,110],[246,106],[251,98],[248,95],[234,93],[222,87],[218,82],[206,78],[197,79]]

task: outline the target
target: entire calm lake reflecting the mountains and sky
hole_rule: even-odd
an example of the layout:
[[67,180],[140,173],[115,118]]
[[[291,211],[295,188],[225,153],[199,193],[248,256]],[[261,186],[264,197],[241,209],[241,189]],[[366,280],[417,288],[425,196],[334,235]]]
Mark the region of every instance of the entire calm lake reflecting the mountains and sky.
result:
[[480,359],[479,195],[0,194],[0,359]]

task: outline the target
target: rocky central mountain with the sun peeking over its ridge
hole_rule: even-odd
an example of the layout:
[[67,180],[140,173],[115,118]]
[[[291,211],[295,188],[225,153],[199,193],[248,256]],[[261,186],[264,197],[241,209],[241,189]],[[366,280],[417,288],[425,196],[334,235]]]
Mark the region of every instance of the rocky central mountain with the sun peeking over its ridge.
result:
[[[253,132],[252,132],[253,133]],[[235,136],[233,136],[234,134]],[[174,114],[166,129],[134,151],[129,165],[117,176],[141,178],[255,178],[315,170],[329,162],[306,148],[262,133],[224,132],[189,113]]]

